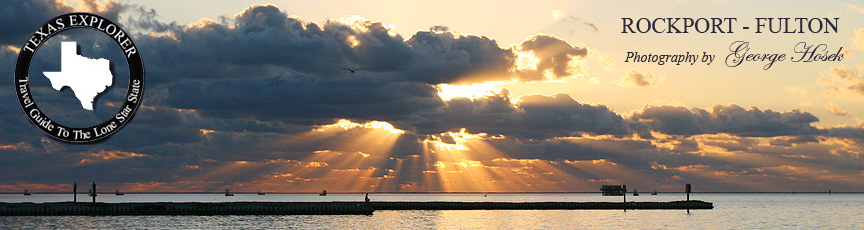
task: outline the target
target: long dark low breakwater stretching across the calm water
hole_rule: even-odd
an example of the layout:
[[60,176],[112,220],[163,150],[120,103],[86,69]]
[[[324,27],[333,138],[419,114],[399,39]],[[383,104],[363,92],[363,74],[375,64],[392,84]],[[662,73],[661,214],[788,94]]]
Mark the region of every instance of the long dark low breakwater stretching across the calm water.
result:
[[672,202],[227,202],[0,203],[0,216],[371,215],[375,210],[712,209],[704,201]]

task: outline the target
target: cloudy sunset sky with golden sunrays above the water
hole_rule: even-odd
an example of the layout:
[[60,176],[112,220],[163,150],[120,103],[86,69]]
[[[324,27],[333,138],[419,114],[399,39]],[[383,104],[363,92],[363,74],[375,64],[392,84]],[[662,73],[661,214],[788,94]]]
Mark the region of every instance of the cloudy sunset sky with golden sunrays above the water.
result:
[[[133,34],[146,70],[131,123],[68,144],[0,87],[0,192],[864,192],[864,3],[855,1],[66,1],[0,6],[0,76],[46,20],[91,12]],[[622,33],[622,18],[737,18],[734,33]],[[839,18],[837,32],[754,33],[755,18]],[[42,71],[59,44],[124,61],[73,29],[32,60],[34,100],[93,111]],[[730,46],[841,61],[724,62]],[[842,49],[841,49],[842,47]],[[838,51],[839,50],[839,51]],[[625,62],[716,55],[710,65]],[[349,72],[343,68],[357,69]],[[116,77],[121,76],[121,77]],[[9,80],[11,81],[11,80]]]

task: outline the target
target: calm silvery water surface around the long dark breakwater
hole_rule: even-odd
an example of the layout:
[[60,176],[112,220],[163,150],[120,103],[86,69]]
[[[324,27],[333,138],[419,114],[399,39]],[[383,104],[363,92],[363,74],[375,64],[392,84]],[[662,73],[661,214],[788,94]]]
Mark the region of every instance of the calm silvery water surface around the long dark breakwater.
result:
[[[100,194],[100,202],[362,201],[365,194]],[[370,194],[373,201],[620,201],[599,194]],[[71,194],[0,194],[0,202],[61,202]],[[683,200],[683,194],[627,197]],[[864,229],[864,194],[691,194],[713,210],[376,211],[371,216],[0,217],[0,229]],[[79,195],[79,201],[90,197]]]

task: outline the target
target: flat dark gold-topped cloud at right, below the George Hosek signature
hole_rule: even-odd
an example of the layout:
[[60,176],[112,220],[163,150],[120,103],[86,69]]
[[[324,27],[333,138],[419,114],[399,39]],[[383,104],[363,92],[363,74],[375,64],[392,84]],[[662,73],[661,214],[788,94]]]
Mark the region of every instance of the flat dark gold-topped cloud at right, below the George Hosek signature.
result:
[[630,120],[647,124],[652,130],[672,135],[728,133],[738,136],[771,137],[821,134],[824,131],[810,123],[819,118],[808,112],[762,111],[738,105],[714,105],[710,110],[679,106],[645,107]]

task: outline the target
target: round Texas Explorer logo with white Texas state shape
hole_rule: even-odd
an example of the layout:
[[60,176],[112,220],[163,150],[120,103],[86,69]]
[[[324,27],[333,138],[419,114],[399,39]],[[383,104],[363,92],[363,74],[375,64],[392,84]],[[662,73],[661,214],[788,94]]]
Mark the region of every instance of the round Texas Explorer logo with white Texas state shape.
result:
[[[102,123],[86,128],[72,128],[51,120],[48,114],[39,109],[30,91],[30,62],[39,46],[57,33],[73,28],[93,29],[108,35],[120,46],[129,64],[129,87],[118,111]],[[77,46],[74,42],[64,42],[61,47],[61,71],[45,72],[45,76],[57,90],[65,86],[72,88],[84,109],[92,110],[95,98],[112,84],[114,76],[109,72],[107,60],[79,57],[76,52]],[[108,82],[107,85],[105,82]],[[131,35],[116,23],[90,13],[64,14],[48,20],[36,29],[19,50],[15,66],[15,92],[18,94],[21,109],[30,122],[49,136],[70,143],[93,142],[116,133],[129,123],[138,111],[144,94],[144,63]]]

